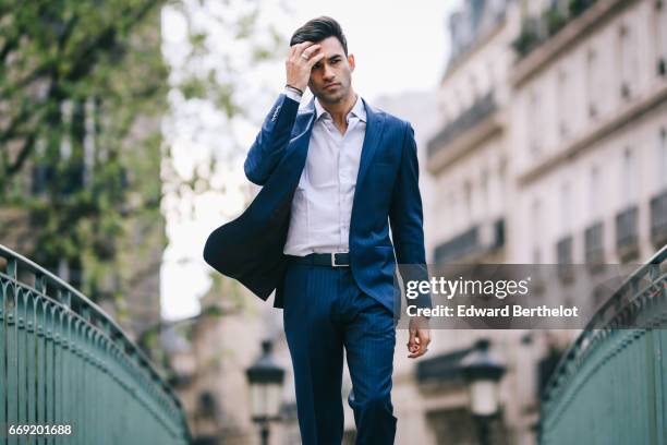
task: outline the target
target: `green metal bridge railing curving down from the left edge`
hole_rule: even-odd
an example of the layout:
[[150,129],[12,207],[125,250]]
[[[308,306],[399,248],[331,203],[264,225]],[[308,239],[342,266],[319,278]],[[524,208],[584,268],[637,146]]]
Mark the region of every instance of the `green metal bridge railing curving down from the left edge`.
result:
[[2,245],[0,297],[0,444],[189,443],[179,399],[99,306]]

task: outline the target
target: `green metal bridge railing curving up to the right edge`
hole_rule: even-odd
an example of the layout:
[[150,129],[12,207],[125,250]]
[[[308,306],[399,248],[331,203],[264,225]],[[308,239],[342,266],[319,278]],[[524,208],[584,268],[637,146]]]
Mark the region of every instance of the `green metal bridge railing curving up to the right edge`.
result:
[[667,444],[667,246],[606,301],[542,401],[542,444]]

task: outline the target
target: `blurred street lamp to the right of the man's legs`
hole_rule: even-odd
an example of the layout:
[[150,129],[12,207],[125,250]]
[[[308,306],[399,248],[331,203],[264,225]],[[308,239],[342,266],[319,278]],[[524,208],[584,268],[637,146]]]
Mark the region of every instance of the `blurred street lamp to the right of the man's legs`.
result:
[[481,445],[490,444],[489,424],[498,413],[498,383],[506,371],[506,366],[488,353],[489,346],[488,339],[480,339],[461,360],[461,371],[469,387],[470,410],[477,421]]

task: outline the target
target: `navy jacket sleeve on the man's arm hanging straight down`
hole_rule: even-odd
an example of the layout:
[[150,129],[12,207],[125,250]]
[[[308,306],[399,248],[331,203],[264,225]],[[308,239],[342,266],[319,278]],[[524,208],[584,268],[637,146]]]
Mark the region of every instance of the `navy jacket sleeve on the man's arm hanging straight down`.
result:
[[[403,285],[407,285],[409,280],[429,280],[424,251],[422,197],[419,182],[420,166],[414,130],[410,123],[407,123],[401,164],[393,184],[389,208],[393,249]],[[408,304],[430,308],[430,292],[420,293],[414,300],[408,301]]]

